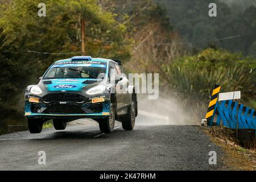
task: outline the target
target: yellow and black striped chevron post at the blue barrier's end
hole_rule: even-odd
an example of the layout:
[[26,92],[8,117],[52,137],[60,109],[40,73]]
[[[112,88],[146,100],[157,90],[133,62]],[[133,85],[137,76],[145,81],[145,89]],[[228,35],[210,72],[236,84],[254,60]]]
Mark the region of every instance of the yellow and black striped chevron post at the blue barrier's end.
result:
[[207,119],[207,121],[210,121],[210,119],[212,118],[213,114],[214,114],[214,110],[216,108],[216,104],[218,101],[218,93],[220,93],[220,89],[221,86],[220,85],[215,85],[213,92],[212,92],[212,97],[210,98],[210,104],[207,110],[207,114],[205,116],[205,119]]

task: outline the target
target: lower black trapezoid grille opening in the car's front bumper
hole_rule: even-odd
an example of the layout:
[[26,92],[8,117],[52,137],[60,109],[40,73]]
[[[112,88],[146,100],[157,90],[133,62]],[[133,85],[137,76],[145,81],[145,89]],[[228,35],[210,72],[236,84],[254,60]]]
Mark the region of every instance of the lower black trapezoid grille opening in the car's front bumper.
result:
[[51,104],[44,111],[45,114],[84,114],[85,111],[76,104]]

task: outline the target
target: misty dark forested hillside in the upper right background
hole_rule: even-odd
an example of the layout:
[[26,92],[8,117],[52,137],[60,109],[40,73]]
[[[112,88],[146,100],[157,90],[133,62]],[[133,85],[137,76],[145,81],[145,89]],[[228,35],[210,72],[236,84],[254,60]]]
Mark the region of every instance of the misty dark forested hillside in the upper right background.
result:
[[[167,15],[174,27],[174,31],[181,36],[184,46],[188,50],[203,49],[208,44],[241,51],[249,55],[249,48],[256,39],[255,30],[255,1],[234,2],[217,0],[217,17],[208,16],[210,0],[155,0],[167,9]],[[237,36],[238,35],[238,36]],[[237,36],[230,38],[232,36]],[[224,38],[224,39],[223,39]],[[226,39],[230,38],[230,39]],[[203,43],[197,43],[203,42]],[[193,47],[191,46],[193,45]]]

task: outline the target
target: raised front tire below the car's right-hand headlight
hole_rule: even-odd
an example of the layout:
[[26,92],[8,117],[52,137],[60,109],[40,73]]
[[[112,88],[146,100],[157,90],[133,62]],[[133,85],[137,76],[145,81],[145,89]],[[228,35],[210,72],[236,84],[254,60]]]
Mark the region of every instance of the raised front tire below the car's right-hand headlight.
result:
[[101,133],[112,133],[115,126],[115,108],[110,104],[110,116],[108,118],[99,119],[98,125],[100,126]]

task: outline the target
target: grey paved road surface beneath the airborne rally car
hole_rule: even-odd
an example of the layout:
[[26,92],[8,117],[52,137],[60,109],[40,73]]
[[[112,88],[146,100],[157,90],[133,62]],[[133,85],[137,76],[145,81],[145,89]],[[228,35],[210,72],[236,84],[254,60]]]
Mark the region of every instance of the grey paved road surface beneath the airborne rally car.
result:
[[[139,118],[138,118],[139,119]],[[0,170],[212,170],[212,144],[198,126],[140,125],[101,134],[98,124],[76,121],[64,131],[45,129],[41,134],[22,131],[0,136]],[[38,152],[46,152],[46,165]]]

